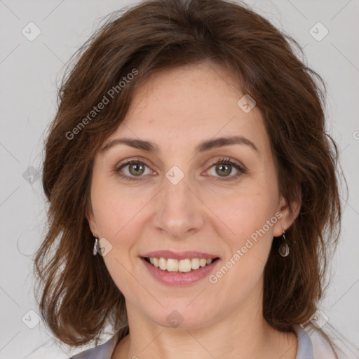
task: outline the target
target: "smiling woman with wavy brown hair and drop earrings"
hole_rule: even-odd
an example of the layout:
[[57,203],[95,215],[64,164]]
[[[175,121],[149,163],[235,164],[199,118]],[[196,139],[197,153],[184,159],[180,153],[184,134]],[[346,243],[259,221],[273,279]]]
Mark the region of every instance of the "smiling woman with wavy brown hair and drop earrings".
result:
[[35,261],[58,339],[113,328],[74,358],[317,358],[310,325],[338,358],[317,310],[337,147],[290,41],[244,4],[154,0],[81,48],[46,142]]

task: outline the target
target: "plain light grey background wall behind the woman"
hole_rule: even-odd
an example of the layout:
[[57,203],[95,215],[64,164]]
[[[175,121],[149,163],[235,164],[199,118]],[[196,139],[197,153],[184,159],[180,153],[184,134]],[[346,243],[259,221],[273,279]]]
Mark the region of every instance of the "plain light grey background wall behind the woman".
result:
[[[325,327],[335,327],[358,346],[359,1],[247,2],[305,46],[309,66],[328,84],[328,131],[339,144],[349,193],[348,201],[343,201],[341,243],[331,261],[332,283],[322,311],[329,320]],[[46,224],[38,177],[44,131],[55,115],[56,89],[69,57],[104,15],[133,3],[0,0],[0,358],[69,357],[69,349],[53,340],[42,321],[36,325],[39,311],[33,296],[31,256]],[[24,28],[30,32],[29,22],[41,30],[34,41],[22,34]],[[317,22],[329,31],[321,41],[309,32]],[[312,31],[323,35],[324,29],[317,27]],[[72,353],[77,351],[80,348]]]

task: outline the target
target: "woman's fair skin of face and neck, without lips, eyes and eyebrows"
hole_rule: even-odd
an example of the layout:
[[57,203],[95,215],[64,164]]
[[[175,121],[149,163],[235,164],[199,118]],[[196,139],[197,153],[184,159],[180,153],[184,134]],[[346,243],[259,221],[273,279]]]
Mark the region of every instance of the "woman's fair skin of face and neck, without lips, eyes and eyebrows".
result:
[[[130,326],[112,359],[296,356],[296,335],[266,323],[262,297],[273,236],[292,224],[299,204],[291,204],[291,216],[278,191],[262,116],[257,107],[248,113],[238,107],[242,96],[219,65],[157,72],[137,89],[126,118],[103,146],[131,137],[154,142],[158,154],[117,144],[95,157],[87,218],[93,234],[112,245],[103,259],[126,298]],[[232,135],[252,141],[258,151],[232,144],[196,154],[200,142]],[[144,171],[130,172],[127,165],[121,173],[137,181],[114,172],[133,157],[146,163]],[[235,178],[238,170],[231,165],[216,169],[223,157],[244,165],[246,172]],[[178,184],[165,177],[173,165],[184,174]],[[276,212],[282,217],[215,284],[203,278],[191,285],[164,285],[139,257],[152,250],[197,250],[220,257],[217,271]],[[166,320],[174,310],[183,317],[176,328]]]

